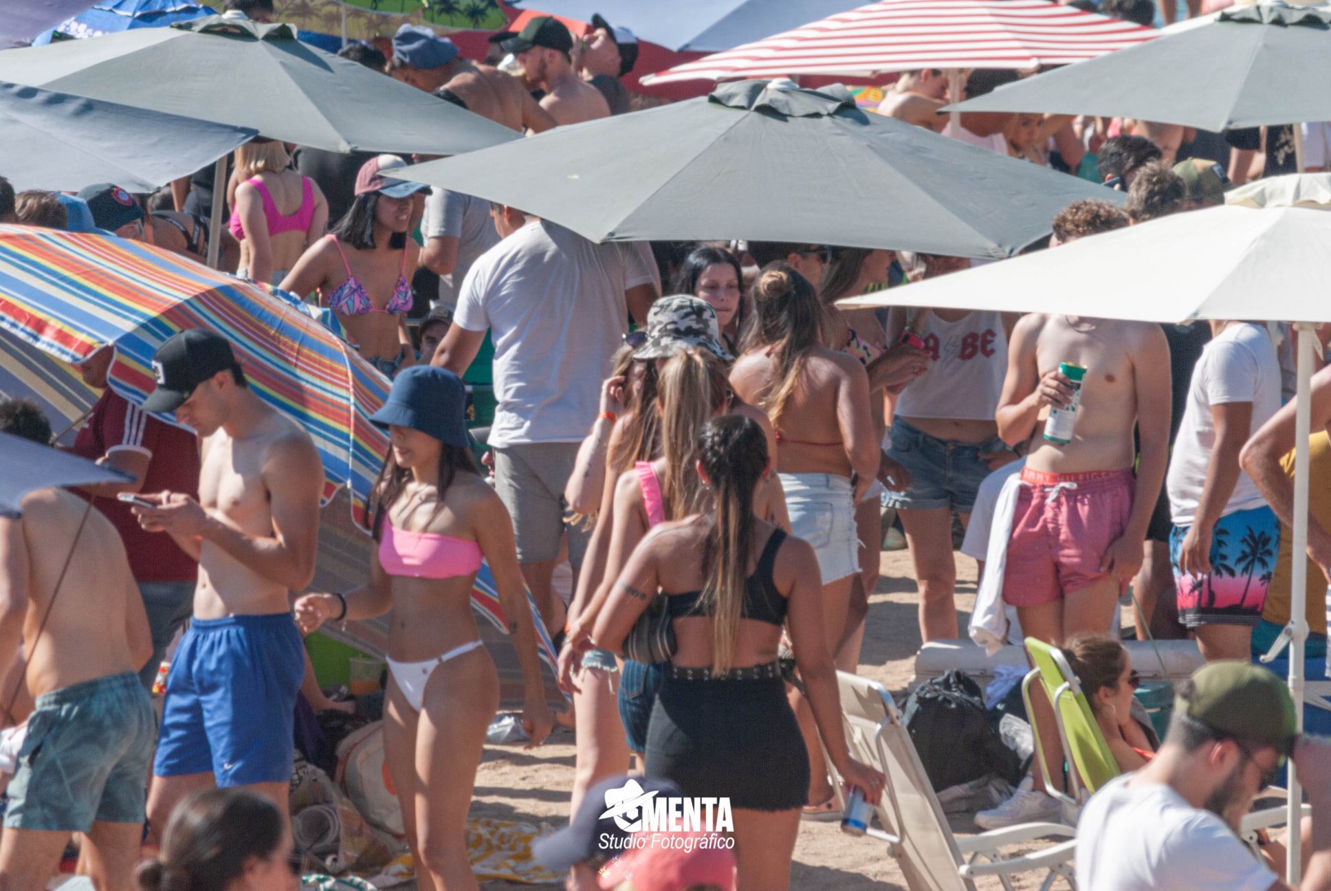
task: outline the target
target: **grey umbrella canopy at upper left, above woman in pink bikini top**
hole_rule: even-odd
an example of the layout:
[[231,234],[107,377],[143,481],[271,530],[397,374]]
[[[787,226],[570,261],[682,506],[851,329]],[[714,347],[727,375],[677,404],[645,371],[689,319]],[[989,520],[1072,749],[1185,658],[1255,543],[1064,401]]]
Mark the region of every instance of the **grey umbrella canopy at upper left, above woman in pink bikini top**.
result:
[[0,80],[248,127],[330,152],[459,154],[519,139],[303,44],[290,25],[228,16],[4,51]]

